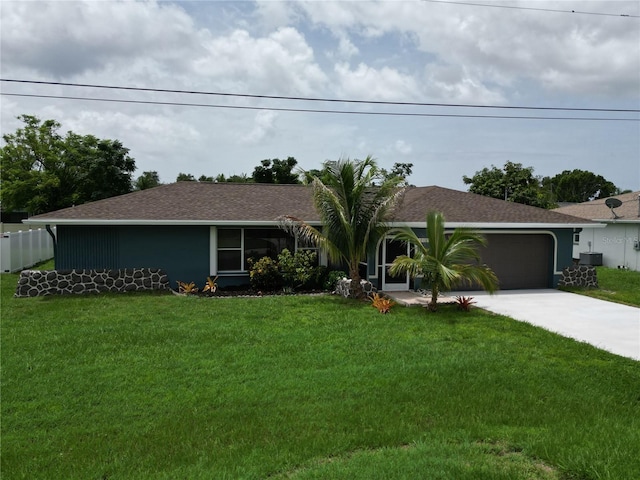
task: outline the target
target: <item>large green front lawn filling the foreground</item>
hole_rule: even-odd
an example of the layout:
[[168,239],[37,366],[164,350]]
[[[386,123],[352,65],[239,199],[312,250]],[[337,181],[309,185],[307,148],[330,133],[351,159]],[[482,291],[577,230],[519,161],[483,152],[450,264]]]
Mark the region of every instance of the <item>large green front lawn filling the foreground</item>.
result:
[[3,480],[640,478],[640,364],[505,317],[0,279]]

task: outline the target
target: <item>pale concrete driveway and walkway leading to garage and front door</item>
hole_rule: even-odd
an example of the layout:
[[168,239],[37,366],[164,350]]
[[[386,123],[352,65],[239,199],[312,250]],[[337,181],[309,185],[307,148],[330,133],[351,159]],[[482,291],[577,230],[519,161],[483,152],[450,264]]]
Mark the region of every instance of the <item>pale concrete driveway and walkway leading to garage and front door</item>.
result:
[[[399,304],[426,305],[428,297],[415,292],[389,292]],[[476,307],[506,315],[586,342],[611,353],[640,360],[640,308],[598,300],[559,290],[504,290],[451,292],[438,303],[456,295],[471,296]]]

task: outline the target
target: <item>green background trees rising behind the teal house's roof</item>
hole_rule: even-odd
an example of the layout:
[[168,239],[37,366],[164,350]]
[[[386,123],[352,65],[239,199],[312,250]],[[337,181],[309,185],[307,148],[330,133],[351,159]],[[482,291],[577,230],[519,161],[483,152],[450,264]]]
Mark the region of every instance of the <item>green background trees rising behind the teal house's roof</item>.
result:
[[[3,135],[0,147],[0,203],[2,210],[46,213],[73,205],[145,190],[162,185],[157,171],[133,177],[135,160],[119,140],[93,135],[59,133],[60,123],[41,121],[32,115],[18,117],[23,126]],[[179,173],[176,181],[311,184],[315,178],[329,180],[333,162],[304,171],[294,157],[264,159],[248,174],[225,176]],[[408,185],[412,163],[395,163],[378,169],[377,184],[386,180]],[[621,192],[601,175],[565,170],[554,177],[533,174],[532,167],[507,162],[504,167],[484,168],[472,177],[463,176],[469,191],[542,208],[559,202],[584,202]]]

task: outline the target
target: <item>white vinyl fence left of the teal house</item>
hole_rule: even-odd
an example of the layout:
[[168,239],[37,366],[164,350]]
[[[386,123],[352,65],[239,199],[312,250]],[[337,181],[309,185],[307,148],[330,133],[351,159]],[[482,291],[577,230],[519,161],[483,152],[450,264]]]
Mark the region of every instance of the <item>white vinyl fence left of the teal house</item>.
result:
[[[55,234],[55,227],[52,228]],[[53,258],[53,240],[44,228],[0,234],[0,272],[18,272]]]

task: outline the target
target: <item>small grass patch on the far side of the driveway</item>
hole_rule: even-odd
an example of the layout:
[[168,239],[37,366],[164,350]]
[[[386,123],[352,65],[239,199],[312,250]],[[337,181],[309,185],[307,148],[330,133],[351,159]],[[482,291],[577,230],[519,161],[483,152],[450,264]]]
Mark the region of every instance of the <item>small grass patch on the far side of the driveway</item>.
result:
[[596,267],[599,288],[563,288],[569,292],[640,307],[640,272]]

